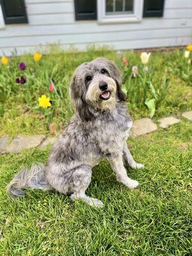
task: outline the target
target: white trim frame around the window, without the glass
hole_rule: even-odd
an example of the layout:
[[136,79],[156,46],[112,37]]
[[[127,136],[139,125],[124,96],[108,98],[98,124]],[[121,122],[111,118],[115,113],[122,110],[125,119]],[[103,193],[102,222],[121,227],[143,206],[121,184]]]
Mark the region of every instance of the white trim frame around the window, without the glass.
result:
[[97,0],[97,16],[100,24],[141,22],[143,0],[134,0],[133,13],[106,15],[106,0]]

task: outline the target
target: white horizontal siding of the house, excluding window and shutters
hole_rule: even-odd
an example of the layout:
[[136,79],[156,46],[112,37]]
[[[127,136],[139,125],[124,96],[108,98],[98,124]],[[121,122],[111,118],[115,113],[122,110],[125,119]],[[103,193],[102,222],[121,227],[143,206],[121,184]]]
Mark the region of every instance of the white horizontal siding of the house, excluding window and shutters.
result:
[[26,0],[29,24],[6,25],[0,30],[0,54],[16,48],[34,51],[38,45],[108,44],[115,49],[139,49],[191,44],[192,0],[165,0],[163,18],[143,18],[140,23],[98,24],[76,21],[73,0]]

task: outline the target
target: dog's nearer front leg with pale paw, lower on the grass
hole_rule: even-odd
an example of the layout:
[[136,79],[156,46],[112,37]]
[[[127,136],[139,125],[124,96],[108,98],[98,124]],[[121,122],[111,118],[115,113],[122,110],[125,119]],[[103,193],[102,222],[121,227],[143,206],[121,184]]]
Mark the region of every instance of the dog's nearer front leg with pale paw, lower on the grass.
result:
[[129,188],[136,188],[138,186],[138,181],[132,180],[127,176],[127,171],[124,167],[124,162],[122,156],[110,157],[109,161],[113,171],[116,173],[116,179],[122,182],[125,186]]

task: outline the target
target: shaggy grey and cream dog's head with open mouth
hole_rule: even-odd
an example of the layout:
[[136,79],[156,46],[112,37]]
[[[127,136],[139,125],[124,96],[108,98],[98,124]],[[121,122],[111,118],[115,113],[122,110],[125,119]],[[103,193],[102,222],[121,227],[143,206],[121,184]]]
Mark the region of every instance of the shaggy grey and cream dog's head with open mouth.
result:
[[105,58],[81,64],[74,72],[70,97],[81,119],[91,120],[92,109],[112,109],[117,101],[125,101],[120,71]]

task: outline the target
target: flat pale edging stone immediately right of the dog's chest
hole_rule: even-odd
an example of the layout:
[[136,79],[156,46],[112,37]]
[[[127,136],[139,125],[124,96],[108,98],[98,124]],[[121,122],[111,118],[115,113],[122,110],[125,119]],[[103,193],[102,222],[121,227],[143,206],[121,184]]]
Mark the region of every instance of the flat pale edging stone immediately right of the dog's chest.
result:
[[141,118],[134,121],[131,136],[140,136],[157,130],[157,125],[150,118]]

